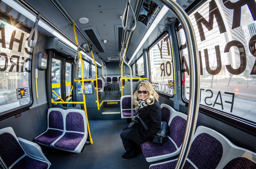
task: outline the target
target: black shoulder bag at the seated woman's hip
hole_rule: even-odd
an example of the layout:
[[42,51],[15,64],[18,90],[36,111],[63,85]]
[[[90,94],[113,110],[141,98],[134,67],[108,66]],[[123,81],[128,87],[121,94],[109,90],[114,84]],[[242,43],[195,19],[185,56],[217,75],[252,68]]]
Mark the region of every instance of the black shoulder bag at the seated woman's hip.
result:
[[[140,118],[140,121],[141,121],[142,125],[144,126],[144,128],[146,130],[148,130],[147,125],[144,123],[144,121],[141,118]],[[166,121],[161,121],[161,128],[156,133],[156,136],[153,137],[152,142],[158,143],[158,144],[164,143],[164,141],[166,140],[166,138],[168,136],[168,133],[169,133],[168,123]]]

